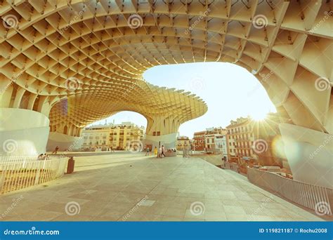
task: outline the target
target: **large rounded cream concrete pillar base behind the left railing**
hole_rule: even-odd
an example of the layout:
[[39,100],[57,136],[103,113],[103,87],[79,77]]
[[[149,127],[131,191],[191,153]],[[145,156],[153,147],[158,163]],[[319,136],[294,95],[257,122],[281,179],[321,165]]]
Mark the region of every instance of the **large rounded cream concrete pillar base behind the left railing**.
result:
[[0,154],[34,155],[46,152],[48,117],[18,108],[0,108]]

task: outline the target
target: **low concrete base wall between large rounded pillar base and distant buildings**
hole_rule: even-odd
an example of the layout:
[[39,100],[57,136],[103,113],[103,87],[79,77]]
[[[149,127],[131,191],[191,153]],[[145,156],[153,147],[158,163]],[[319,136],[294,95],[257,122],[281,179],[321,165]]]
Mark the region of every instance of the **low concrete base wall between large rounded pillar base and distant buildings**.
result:
[[83,137],[73,137],[62,133],[51,132],[48,136],[46,149],[48,152],[53,152],[55,147],[58,146],[58,151],[71,151],[80,148],[83,142]]

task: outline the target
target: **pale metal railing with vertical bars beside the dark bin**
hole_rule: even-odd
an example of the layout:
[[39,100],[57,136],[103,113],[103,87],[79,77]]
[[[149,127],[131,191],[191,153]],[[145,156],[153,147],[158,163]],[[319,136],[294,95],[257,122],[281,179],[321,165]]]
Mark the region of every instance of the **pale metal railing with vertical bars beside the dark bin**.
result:
[[0,194],[39,185],[60,178],[65,173],[67,158],[48,156],[2,156]]

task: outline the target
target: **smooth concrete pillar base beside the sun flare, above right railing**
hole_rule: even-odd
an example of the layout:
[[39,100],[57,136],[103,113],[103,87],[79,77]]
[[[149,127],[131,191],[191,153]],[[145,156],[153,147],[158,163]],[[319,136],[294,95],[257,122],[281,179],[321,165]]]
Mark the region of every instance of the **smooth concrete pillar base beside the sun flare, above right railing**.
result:
[[333,135],[280,124],[294,180],[333,189]]

